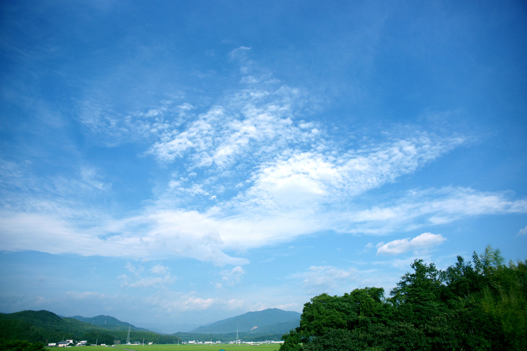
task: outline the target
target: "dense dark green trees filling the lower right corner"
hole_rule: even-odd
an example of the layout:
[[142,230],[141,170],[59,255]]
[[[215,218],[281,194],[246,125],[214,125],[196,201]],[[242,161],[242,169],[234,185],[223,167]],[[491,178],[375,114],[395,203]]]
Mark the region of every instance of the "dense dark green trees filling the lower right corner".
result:
[[445,270],[417,259],[383,288],[321,294],[280,351],[527,350],[527,260],[504,264],[491,246]]

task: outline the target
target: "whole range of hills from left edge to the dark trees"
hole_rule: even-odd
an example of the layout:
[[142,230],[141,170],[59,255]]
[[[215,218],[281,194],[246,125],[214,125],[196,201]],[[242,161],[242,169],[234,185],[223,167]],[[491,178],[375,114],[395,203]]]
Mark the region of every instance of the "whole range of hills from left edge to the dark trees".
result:
[[[20,311],[12,314],[0,313],[0,336],[7,340],[29,342],[58,342],[64,338],[74,340],[106,340],[112,344],[124,342],[128,329],[131,342],[148,340],[155,344],[173,344],[178,340],[218,340],[228,342],[236,337],[245,341],[279,340],[300,323],[300,314],[270,308],[262,311],[219,320],[207,326],[194,329],[191,333],[159,334],[138,328],[111,316],[61,317],[50,311]],[[93,339],[93,340],[91,340]]]

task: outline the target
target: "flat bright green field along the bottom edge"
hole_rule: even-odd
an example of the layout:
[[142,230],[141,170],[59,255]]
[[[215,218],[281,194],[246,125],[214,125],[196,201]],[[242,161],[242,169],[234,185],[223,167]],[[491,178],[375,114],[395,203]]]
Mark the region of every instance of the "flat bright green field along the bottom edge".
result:
[[119,351],[133,350],[133,351],[218,351],[224,349],[225,351],[278,351],[280,344],[212,344],[212,345],[196,345],[196,344],[160,344],[160,345],[118,345],[114,348],[105,346],[83,346],[82,350],[87,351]]

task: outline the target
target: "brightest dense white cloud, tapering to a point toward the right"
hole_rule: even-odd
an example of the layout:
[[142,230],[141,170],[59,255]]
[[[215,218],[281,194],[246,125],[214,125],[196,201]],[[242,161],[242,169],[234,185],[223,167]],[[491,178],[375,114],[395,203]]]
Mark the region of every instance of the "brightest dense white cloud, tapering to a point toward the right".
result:
[[284,153],[261,164],[253,173],[253,187],[241,196],[259,200],[260,207],[349,202],[414,172],[462,143],[459,137],[420,133],[342,154],[315,150]]

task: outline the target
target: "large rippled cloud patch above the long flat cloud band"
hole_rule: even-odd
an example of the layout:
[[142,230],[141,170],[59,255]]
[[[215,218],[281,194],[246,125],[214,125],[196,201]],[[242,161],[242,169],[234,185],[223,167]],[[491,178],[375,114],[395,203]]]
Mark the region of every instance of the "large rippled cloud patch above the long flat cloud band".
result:
[[[238,48],[231,58],[251,62],[248,51]],[[241,70],[244,76],[256,71],[253,64]],[[216,206],[217,199],[265,207],[338,201],[393,182],[466,142],[462,136],[417,131],[350,148],[343,140],[328,141],[324,125],[305,120],[306,92],[270,73],[251,76],[205,112],[194,111],[200,103],[164,101],[103,122],[101,133],[115,129],[153,141],[147,154],[165,167],[178,160],[167,196],[183,195],[182,204],[196,199],[192,194],[206,196],[212,201],[204,201],[205,207]],[[186,115],[189,111],[194,113]]]

